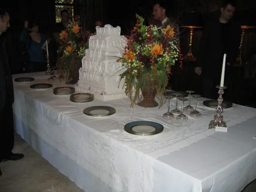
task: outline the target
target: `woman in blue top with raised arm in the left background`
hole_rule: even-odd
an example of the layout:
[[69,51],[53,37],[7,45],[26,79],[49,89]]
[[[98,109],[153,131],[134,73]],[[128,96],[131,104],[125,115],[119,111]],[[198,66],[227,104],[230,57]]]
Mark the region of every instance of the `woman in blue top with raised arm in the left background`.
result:
[[46,36],[39,32],[39,25],[36,22],[24,22],[24,30],[20,35],[20,41],[26,46],[28,53],[28,72],[40,72],[46,70],[46,57],[42,46],[46,42]]

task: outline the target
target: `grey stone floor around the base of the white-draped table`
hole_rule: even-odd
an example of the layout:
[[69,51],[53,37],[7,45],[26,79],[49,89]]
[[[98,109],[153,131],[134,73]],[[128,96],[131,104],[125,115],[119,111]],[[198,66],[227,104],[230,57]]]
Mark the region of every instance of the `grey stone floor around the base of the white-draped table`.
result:
[[[66,176],[58,172],[20,136],[15,135],[14,152],[25,154],[17,162],[1,163],[0,192],[82,192]],[[243,192],[256,192],[256,181]]]

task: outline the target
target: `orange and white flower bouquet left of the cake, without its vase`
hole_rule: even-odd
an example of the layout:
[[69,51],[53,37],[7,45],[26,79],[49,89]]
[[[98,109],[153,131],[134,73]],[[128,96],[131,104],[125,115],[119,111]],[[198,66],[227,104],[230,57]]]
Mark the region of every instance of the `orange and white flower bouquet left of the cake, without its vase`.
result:
[[67,29],[60,33],[58,65],[70,70],[75,60],[81,60],[85,56],[85,49],[88,48],[86,42],[89,34],[89,32],[82,32],[79,16],[75,16],[74,21],[70,21]]

